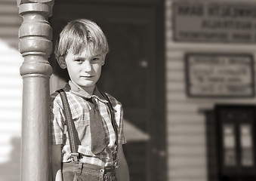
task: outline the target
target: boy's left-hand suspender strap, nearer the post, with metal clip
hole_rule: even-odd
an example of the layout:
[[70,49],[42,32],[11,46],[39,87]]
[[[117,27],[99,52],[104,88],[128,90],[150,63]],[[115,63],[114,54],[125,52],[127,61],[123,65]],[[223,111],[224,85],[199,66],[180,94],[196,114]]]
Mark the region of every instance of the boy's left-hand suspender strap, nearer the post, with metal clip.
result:
[[76,127],[74,122],[72,121],[72,115],[71,110],[69,107],[69,102],[66,97],[66,92],[63,89],[57,90],[57,92],[60,93],[60,98],[63,103],[63,111],[66,118],[66,127],[69,135],[69,146],[71,150],[71,156],[73,161],[77,161],[79,157],[78,152],[78,143],[77,140],[79,140],[79,137],[76,132]]

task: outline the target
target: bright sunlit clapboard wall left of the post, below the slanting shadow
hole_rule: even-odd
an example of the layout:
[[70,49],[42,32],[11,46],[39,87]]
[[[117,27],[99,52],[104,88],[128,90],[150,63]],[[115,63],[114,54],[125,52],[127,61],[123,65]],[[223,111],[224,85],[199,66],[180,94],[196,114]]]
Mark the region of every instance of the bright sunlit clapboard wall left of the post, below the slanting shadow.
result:
[[0,181],[19,180],[23,57],[0,38]]

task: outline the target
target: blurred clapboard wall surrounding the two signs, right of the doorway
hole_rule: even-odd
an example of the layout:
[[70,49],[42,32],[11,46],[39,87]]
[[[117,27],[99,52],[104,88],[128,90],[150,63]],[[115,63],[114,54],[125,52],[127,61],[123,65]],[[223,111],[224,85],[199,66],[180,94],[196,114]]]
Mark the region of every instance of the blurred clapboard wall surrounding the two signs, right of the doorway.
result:
[[[255,104],[256,99],[196,99],[187,97],[184,54],[248,53],[256,57],[255,45],[178,43],[172,37],[171,0],[165,0],[166,97],[168,180],[206,181],[207,143],[205,114],[214,103]],[[256,66],[254,67],[256,70]]]

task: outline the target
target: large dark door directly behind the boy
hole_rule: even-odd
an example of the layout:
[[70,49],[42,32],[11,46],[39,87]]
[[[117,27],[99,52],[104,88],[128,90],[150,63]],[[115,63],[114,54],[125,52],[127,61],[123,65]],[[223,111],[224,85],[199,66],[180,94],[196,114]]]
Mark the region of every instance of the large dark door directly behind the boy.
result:
[[[165,143],[165,130],[158,133],[156,127],[159,124],[165,127],[161,124],[164,123],[163,116],[157,115],[164,115],[165,110],[158,106],[164,100],[163,94],[159,94],[159,87],[164,87],[164,79],[158,81],[159,67],[163,68],[159,64],[163,65],[163,61],[158,63],[156,60],[159,41],[156,41],[155,8],[147,5],[55,2],[54,16],[50,20],[54,38],[66,22],[77,18],[94,20],[109,41],[110,51],[97,86],[116,97],[124,108],[125,137],[128,140],[124,150],[131,180],[155,181],[158,177],[162,181],[163,177],[157,170],[165,175],[165,162],[158,162],[160,159],[157,157],[164,154],[157,144]],[[55,76],[51,85],[57,89],[60,79],[66,80],[67,75],[58,68],[53,57],[51,65]],[[165,146],[161,145],[161,148]]]

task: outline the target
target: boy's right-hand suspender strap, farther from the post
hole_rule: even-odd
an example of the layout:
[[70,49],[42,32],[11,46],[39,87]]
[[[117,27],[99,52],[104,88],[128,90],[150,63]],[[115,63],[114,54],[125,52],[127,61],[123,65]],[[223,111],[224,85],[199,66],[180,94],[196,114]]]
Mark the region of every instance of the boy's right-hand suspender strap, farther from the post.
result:
[[117,164],[118,164],[117,151],[119,150],[119,141],[118,141],[118,131],[117,131],[117,124],[116,124],[116,119],[115,119],[115,115],[114,115],[114,109],[113,109],[113,106],[112,106],[112,104],[109,100],[109,97],[107,97],[106,94],[101,92],[101,91],[100,91],[100,94],[102,94],[103,97],[105,98],[105,100],[108,101],[108,103],[106,103],[106,104],[109,107],[112,126],[113,126],[113,129],[115,130],[115,134],[116,134],[116,151],[113,152],[113,161],[114,161],[114,166],[117,167]]

